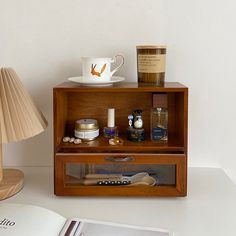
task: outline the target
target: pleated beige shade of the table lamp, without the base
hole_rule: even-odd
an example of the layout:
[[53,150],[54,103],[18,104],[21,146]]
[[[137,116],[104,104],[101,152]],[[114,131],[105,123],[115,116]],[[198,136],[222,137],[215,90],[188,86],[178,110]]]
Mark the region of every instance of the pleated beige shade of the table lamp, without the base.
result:
[[24,89],[16,72],[2,68],[0,73],[0,142],[27,139],[47,127],[43,114]]

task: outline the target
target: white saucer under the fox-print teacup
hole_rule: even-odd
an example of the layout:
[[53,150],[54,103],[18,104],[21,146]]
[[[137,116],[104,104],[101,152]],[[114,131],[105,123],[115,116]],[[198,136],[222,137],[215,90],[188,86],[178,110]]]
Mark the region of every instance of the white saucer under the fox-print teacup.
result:
[[120,76],[112,76],[111,80],[109,81],[91,81],[91,80],[86,80],[83,76],[77,76],[77,77],[68,78],[68,80],[79,83],[82,86],[104,87],[104,86],[111,86],[114,83],[121,82],[125,80],[125,78],[120,77]]

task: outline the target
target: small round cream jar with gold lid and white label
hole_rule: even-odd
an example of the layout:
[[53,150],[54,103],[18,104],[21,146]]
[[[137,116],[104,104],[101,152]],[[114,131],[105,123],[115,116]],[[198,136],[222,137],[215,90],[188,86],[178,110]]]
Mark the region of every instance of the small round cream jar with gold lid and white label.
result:
[[85,141],[99,136],[98,122],[95,119],[81,119],[75,122],[75,137]]

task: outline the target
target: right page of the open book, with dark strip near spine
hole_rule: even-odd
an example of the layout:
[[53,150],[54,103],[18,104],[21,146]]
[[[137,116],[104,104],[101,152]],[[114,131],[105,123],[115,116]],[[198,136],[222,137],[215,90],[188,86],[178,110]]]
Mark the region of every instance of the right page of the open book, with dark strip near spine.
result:
[[59,236],[170,236],[159,228],[132,226],[93,220],[68,220]]

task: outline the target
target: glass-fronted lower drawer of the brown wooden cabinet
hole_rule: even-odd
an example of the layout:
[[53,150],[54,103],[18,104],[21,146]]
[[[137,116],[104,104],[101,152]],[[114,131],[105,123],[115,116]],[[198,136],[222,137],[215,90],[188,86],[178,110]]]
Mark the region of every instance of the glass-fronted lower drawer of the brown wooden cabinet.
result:
[[[127,160],[126,160],[127,158]],[[123,161],[125,160],[125,161]],[[100,189],[95,195],[110,195],[109,188],[114,190],[114,195],[125,196],[129,191],[129,195],[137,195],[139,189],[142,196],[159,188],[167,188],[174,191],[174,196],[184,196],[186,194],[186,156],[179,155],[156,155],[156,154],[57,154],[55,158],[55,192],[57,195],[70,194],[76,191],[76,195],[89,195],[91,191]],[[122,175],[133,176],[137,173],[147,172],[149,176],[157,183],[154,186],[97,186],[95,182],[89,186],[86,176],[88,174],[106,174],[106,175]],[[61,174],[60,174],[61,173]],[[63,174],[62,174],[63,173]],[[101,179],[99,179],[101,180]],[[114,180],[114,179],[113,179]],[[77,189],[77,190],[75,190]],[[108,191],[107,191],[108,190]],[[104,192],[105,191],[105,192]],[[121,191],[121,193],[119,192]],[[122,194],[123,192],[123,194]],[[73,193],[75,194],[75,193]],[[159,190],[156,192],[159,195]]]

